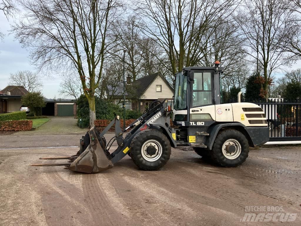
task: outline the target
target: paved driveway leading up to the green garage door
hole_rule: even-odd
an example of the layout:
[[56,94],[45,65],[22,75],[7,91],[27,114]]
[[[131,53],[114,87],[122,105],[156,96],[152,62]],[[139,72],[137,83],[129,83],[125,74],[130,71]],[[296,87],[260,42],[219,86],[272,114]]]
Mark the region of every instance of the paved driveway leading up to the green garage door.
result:
[[72,117],[49,117],[50,120],[31,131],[20,131],[14,135],[41,135],[41,134],[85,134],[87,129],[79,128],[77,119]]

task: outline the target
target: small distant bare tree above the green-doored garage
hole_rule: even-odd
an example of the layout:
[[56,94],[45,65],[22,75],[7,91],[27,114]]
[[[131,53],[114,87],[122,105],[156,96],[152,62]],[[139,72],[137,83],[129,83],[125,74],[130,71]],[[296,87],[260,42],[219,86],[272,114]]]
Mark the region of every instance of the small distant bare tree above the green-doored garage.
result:
[[82,82],[77,74],[65,76],[60,84],[59,92],[63,97],[74,97],[76,100],[83,94]]

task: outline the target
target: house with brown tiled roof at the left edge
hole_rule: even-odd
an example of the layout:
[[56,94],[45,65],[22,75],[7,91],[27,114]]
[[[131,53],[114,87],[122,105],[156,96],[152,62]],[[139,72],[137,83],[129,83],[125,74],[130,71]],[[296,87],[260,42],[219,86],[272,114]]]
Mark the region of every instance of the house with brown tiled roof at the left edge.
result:
[[24,86],[6,86],[0,92],[0,114],[19,111],[22,96],[29,93]]

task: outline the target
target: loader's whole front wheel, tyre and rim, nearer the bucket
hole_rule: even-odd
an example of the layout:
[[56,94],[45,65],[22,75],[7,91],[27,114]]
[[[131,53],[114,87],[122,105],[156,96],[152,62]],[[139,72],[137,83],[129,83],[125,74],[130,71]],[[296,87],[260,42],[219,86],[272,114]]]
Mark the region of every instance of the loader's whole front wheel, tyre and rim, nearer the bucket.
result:
[[171,146],[168,138],[154,129],[143,130],[131,142],[130,155],[141,170],[158,170],[170,158]]

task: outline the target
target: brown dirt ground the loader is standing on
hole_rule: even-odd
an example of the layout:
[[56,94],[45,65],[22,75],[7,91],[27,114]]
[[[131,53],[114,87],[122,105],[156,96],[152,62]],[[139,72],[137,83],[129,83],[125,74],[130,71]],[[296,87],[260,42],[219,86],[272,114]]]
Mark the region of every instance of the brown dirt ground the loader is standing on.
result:
[[[160,171],[141,171],[128,156],[97,174],[29,166],[77,150],[0,149],[0,225],[301,225],[301,147],[254,149],[237,168],[179,149]],[[296,219],[243,222],[247,206],[282,207]]]

